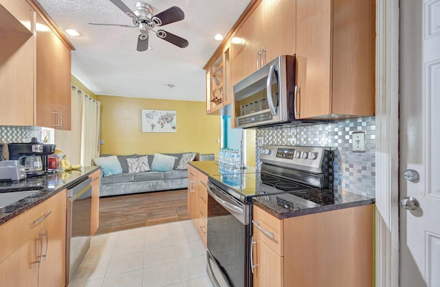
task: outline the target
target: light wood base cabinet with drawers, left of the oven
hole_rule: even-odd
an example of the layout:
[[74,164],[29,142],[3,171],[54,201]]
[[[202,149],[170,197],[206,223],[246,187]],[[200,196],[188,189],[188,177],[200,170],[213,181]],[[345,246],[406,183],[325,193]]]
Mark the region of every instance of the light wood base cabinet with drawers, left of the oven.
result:
[[208,220],[208,176],[188,166],[188,215],[194,224],[201,242],[206,247]]

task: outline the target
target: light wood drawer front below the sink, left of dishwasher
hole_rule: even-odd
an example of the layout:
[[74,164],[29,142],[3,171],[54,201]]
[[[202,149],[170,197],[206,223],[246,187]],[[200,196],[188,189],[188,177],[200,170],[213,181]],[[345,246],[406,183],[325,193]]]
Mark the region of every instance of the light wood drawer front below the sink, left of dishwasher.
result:
[[0,262],[52,220],[54,207],[63,206],[61,200],[66,200],[63,192],[0,226]]

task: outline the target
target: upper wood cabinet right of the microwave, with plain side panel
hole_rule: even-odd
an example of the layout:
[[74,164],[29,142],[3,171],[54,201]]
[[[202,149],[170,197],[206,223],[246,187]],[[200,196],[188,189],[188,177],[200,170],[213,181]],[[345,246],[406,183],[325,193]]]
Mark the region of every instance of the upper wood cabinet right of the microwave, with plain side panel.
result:
[[372,116],[375,2],[296,1],[298,118]]

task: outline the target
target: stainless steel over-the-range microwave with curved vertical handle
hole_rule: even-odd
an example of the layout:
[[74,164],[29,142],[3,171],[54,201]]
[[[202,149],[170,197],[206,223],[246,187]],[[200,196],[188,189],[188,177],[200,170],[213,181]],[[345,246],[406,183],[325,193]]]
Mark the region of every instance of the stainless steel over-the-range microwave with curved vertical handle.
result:
[[295,56],[281,55],[234,85],[235,127],[295,120]]

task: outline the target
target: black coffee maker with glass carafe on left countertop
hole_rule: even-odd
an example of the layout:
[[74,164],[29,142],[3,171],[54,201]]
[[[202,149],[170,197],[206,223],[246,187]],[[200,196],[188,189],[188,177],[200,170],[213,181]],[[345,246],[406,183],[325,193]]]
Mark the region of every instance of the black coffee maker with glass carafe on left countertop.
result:
[[41,170],[26,170],[26,176],[41,176],[49,172],[47,156],[55,152],[55,145],[45,145],[39,143],[36,138],[32,138],[31,142],[9,143],[10,160],[20,160],[21,164],[25,162],[34,162],[36,157],[41,157]]

